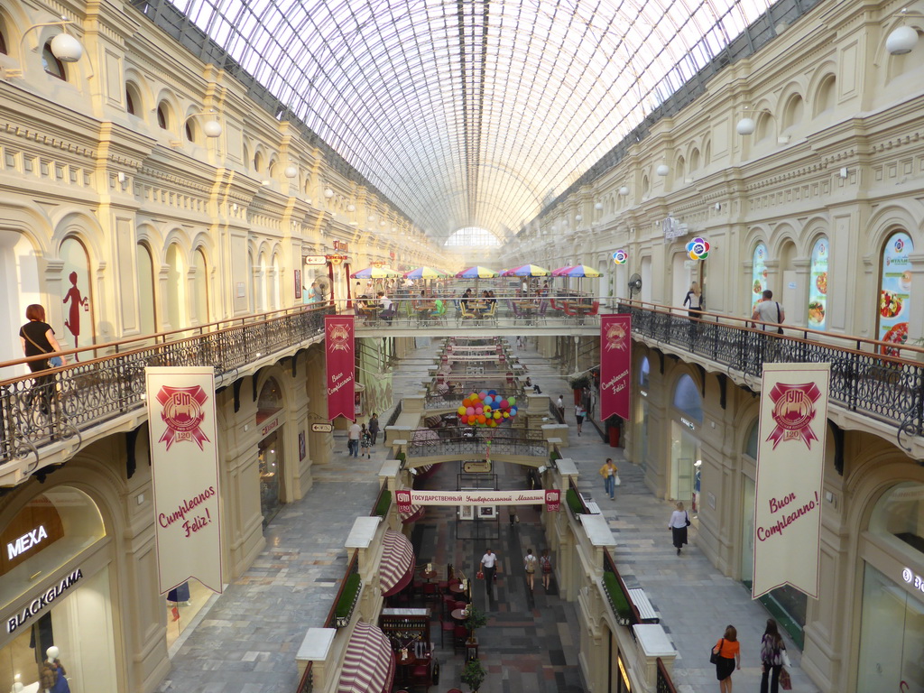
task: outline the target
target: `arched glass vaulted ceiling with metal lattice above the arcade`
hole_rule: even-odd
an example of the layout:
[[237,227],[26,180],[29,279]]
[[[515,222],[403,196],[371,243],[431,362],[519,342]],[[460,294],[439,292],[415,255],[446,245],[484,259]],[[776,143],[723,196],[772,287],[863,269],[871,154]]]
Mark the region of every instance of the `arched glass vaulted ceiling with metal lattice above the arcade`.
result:
[[505,238],[770,0],[172,0],[432,236]]

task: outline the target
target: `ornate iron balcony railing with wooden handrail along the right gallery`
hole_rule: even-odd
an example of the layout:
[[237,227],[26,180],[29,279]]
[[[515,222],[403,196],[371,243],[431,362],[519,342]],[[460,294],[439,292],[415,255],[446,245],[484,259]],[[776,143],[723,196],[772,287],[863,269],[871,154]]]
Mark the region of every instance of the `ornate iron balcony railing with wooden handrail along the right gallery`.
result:
[[911,360],[924,353],[920,349],[788,327],[776,334],[751,329],[747,321],[717,315],[695,320],[637,303],[620,303],[619,310],[632,315],[634,333],[756,381],[765,362],[831,363],[833,403],[894,424],[899,434],[924,432],[924,363]]

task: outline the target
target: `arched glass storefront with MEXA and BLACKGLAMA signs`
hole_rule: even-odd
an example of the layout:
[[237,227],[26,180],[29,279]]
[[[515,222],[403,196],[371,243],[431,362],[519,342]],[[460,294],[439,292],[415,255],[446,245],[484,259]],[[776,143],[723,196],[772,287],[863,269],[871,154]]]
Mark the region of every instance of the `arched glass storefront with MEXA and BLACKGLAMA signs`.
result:
[[0,690],[38,690],[54,646],[52,675],[73,693],[116,693],[105,537],[99,509],[68,486],[35,496],[0,531]]

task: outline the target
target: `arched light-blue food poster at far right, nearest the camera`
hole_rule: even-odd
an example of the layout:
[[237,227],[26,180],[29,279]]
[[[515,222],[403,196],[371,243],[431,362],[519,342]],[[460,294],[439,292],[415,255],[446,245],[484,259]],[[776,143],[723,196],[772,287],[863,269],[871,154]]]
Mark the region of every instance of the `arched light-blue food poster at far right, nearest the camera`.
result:
[[[879,334],[883,342],[905,344],[911,295],[911,237],[904,231],[893,234],[882,249],[882,282],[879,295]],[[885,347],[883,353],[898,356],[898,349]]]

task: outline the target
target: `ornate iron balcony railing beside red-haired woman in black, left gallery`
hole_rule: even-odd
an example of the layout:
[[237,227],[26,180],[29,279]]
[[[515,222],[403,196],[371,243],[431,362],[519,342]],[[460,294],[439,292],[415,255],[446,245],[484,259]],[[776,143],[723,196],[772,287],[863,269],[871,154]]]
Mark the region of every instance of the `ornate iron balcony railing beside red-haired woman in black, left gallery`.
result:
[[[35,468],[43,445],[79,437],[91,426],[143,407],[146,366],[211,366],[216,375],[233,374],[261,355],[322,334],[323,317],[331,311],[323,307],[249,316],[91,346],[76,352],[91,360],[4,381],[0,383],[0,465],[34,455]],[[104,356],[96,358],[100,354]]]

